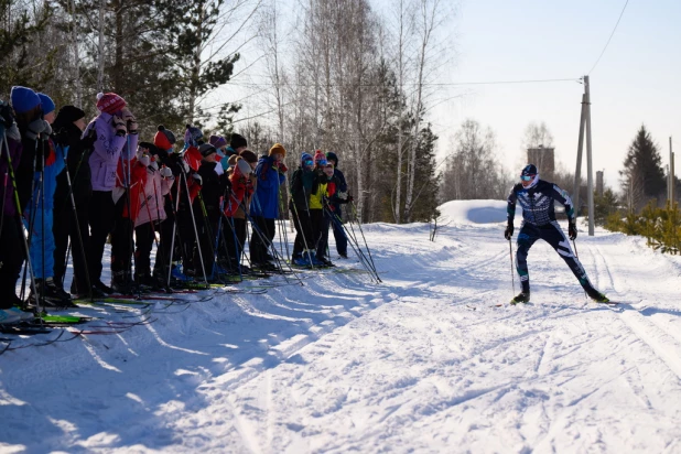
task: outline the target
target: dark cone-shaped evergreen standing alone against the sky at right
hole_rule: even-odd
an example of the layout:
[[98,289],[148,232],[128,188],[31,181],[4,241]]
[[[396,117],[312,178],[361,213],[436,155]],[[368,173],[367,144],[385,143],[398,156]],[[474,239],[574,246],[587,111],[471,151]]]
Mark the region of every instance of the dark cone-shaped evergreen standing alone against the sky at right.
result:
[[650,198],[660,199],[666,188],[659,147],[642,125],[629,145],[620,171],[621,187],[629,210],[638,210]]

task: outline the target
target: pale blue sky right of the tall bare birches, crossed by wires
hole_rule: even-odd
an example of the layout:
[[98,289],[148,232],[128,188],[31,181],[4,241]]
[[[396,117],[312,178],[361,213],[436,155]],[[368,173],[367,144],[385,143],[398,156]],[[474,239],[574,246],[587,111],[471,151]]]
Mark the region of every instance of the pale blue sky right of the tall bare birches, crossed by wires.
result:
[[[465,0],[451,22],[456,64],[442,82],[579,78],[601,54],[625,0]],[[594,170],[618,187],[627,148],[645,123],[668,163],[681,153],[681,1],[630,0],[591,74]],[[436,108],[441,153],[466,118],[490,126],[501,161],[517,170],[530,121],[545,121],[556,156],[574,172],[583,86],[577,83],[465,86]],[[585,167],[584,167],[585,172]],[[677,159],[677,175],[681,159]]]

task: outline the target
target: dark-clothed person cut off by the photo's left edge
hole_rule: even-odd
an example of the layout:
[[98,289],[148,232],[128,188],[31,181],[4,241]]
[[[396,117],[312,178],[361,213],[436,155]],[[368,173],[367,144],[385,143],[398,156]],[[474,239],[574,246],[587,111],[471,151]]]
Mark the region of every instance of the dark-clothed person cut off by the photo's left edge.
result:
[[[39,100],[40,104],[40,100]],[[32,318],[15,305],[22,305],[17,296],[17,280],[25,253],[22,248],[23,229],[20,227],[17,210],[17,197],[12,181],[21,159],[21,133],[14,122],[12,108],[0,101],[0,324],[18,323]]]

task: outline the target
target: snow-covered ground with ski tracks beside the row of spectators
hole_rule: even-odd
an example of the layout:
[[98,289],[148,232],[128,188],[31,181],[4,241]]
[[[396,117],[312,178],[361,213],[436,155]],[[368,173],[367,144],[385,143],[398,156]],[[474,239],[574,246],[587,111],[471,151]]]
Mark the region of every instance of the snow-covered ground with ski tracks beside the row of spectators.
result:
[[581,226],[592,281],[623,304],[586,302],[539,242],[533,302],[511,307],[505,203],[442,212],[435,242],[365,226],[382,284],[322,272],[4,353],[0,451],[681,453],[681,259]]

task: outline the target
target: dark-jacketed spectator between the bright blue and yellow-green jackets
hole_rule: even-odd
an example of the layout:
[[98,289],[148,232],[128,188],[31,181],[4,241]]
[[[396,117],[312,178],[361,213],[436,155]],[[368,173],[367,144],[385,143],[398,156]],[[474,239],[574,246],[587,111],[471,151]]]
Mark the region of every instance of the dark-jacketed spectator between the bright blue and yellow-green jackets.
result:
[[293,242],[293,263],[298,266],[310,266],[314,251],[310,251],[313,245],[312,221],[310,219],[310,196],[316,188],[317,182],[314,173],[314,160],[310,153],[301,154],[301,165],[291,176],[291,220],[295,228],[295,241]]

